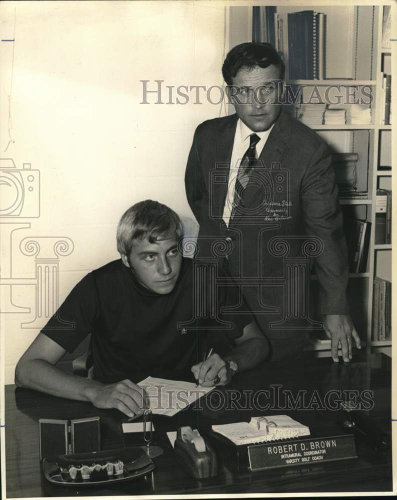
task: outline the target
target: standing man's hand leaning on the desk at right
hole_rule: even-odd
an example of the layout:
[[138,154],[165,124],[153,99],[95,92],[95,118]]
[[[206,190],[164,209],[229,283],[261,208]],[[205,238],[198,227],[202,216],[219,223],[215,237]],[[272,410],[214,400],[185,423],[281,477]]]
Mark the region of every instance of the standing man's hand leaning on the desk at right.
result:
[[354,338],[358,349],[361,348],[361,340],[354,328],[350,314],[326,314],[324,316],[324,330],[331,339],[332,359],[337,363],[338,345],[342,349],[343,361],[348,362],[352,358],[351,337]]

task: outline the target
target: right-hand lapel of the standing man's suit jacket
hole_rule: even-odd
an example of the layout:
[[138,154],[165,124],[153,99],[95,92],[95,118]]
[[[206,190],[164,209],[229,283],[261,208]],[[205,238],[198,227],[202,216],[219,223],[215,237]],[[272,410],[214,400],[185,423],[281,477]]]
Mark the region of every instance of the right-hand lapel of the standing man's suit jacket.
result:
[[[281,110],[274,123],[274,126],[267,138],[266,144],[264,145],[262,152],[260,153],[260,160],[258,162],[257,173],[260,176],[260,171],[271,170],[272,163],[277,163],[281,160],[284,153],[288,149],[288,142],[291,137],[291,127],[289,123],[289,114]],[[244,192],[244,204],[247,208],[254,204],[256,198],[263,194],[263,186],[260,182],[251,183],[248,182],[246,191]],[[236,213],[233,217],[233,222],[237,222],[241,218],[242,214]]]

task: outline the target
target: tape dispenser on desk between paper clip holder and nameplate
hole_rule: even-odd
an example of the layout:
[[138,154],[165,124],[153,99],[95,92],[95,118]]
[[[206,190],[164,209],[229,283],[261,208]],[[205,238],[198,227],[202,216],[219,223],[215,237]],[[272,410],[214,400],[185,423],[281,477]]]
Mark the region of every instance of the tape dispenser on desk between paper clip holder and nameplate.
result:
[[196,479],[218,474],[215,451],[204,441],[198,430],[179,427],[174,445],[175,458],[181,467]]

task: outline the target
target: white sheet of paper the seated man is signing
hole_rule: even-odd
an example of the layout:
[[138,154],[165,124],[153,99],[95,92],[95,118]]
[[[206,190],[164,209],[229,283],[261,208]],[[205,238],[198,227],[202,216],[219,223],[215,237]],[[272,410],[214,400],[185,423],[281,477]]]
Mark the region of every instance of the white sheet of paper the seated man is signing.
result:
[[154,414],[173,416],[201,396],[211,392],[213,387],[201,387],[193,382],[168,380],[148,376],[138,383],[146,390],[149,407]]

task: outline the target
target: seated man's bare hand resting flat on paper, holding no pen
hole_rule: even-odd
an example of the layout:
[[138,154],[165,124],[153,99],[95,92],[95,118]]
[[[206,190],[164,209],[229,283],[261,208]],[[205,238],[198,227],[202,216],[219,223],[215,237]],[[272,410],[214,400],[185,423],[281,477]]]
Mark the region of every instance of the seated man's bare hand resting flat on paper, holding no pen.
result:
[[117,408],[130,417],[148,407],[145,389],[128,379],[90,387],[88,397],[97,408]]

